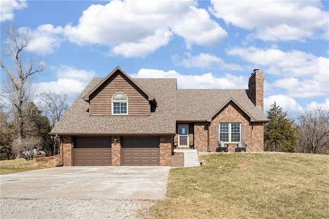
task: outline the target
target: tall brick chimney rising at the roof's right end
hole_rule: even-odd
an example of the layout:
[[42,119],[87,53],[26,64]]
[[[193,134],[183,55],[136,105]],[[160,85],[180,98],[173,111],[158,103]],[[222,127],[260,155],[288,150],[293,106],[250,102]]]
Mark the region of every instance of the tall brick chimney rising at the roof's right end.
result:
[[254,69],[249,78],[249,95],[257,107],[264,111],[264,73],[259,69]]

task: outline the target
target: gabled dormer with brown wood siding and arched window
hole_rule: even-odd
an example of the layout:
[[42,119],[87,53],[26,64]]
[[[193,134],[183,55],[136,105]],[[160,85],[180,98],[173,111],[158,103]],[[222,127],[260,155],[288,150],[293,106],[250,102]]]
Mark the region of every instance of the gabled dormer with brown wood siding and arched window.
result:
[[157,105],[119,66],[83,97],[90,116],[150,116]]

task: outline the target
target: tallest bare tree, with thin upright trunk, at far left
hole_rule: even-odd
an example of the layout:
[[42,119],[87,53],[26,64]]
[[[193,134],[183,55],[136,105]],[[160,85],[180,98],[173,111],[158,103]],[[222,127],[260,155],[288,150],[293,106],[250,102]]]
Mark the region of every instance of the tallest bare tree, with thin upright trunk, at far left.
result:
[[29,82],[31,76],[43,71],[45,66],[42,63],[35,65],[32,59],[25,62],[23,54],[30,42],[27,34],[20,34],[17,30],[13,29],[12,25],[8,26],[5,30],[8,33],[8,48],[4,52],[13,61],[14,66],[12,68],[7,67],[3,59],[0,61],[0,65],[8,76],[5,94],[14,109],[14,118],[17,122],[17,137],[22,139],[24,124],[23,106],[33,93]]

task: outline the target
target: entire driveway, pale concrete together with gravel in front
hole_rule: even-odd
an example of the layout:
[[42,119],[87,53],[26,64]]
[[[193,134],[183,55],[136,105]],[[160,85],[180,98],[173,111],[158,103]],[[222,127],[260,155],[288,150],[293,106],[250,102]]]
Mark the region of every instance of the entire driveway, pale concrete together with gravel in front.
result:
[[151,218],[170,167],[61,167],[0,175],[0,218]]

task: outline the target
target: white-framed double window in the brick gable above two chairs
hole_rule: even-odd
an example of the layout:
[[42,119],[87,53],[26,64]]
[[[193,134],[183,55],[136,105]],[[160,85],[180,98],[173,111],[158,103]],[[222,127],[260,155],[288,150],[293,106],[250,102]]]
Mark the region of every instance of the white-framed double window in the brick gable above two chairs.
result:
[[220,140],[237,142],[241,140],[241,123],[220,123]]

